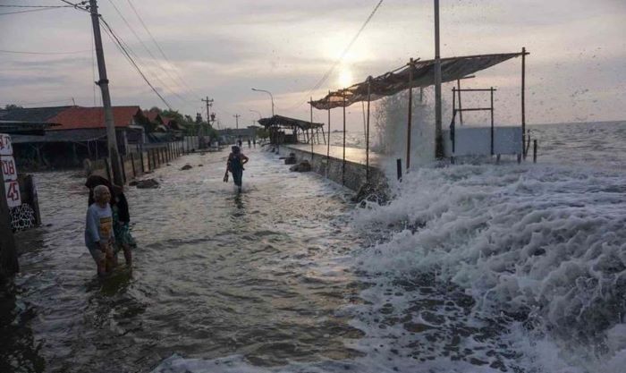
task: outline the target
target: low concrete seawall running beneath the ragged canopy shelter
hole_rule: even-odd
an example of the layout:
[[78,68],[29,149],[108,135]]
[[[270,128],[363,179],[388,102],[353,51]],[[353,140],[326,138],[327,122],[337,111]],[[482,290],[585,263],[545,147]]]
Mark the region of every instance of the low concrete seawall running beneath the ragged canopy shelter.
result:
[[[295,154],[298,162],[306,159],[317,174],[327,176],[330,180],[342,184],[352,191],[359,191],[366,183],[367,167],[365,165],[365,150],[346,148],[345,172],[343,171],[343,148],[331,147],[331,156],[326,157],[326,145],[314,145],[311,152],[310,145],[282,145],[280,155]],[[339,157],[338,157],[339,156]],[[370,153],[369,179],[374,184],[386,181],[385,173],[378,167],[381,156]]]

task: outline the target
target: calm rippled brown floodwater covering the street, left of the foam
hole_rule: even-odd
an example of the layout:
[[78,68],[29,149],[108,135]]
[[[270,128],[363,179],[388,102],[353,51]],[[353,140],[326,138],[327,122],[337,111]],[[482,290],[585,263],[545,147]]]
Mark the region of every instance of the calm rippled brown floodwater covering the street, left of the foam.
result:
[[45,226],[19,236],[0,371],[150,371],[173,354],[262,367],[354,357],[343,339],[361,332],[334,316],[359,288],[337,261],[358,244],[345,191],[247,150],[241,194],[222,181],[225,150],[158,169],[159,189],[127,187],[134,267],[121,258],[104,281],[83,242],[84,179],[38,174]]

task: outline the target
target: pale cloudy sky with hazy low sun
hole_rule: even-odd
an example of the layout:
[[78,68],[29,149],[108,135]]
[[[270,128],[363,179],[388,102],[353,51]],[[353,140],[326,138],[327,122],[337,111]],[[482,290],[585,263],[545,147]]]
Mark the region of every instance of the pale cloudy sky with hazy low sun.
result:
[[[385,0],[340,60],[377,3],[98,1],[99,13],[165,101],[183,114],[206,116],[201,98],[212,98],[211,110],[222,127],[234,127],[235,114],[241,115],[240,126],[271,114],[269,95],[251,88],[273,94],[275,114],[308,120],[309,97],[318,99],[329,89],[391,71],[410,57],[434,57],[433,1]],[[0,0],[0,5],[15,4],[63,2]],[[527,48],[527,123],[626,119],[626,1],[442,0],[440,4],[443,57]],[[0,13],[30,9],[0,6]],[[165,103],[104,32],[103,41],[113,104],[164,108]],[[328,79],[312,90],[337,61]],[[496,123],[520,123],[520,66],[520,58],[513,59],[462,82],[465,88],[497,89]],[[79,106],[99,106],[94,81],[97,67],[88,13],[58,8],[0,14],[0,106],[72,105],[72,98]],[[452,100],[451,89],[444,85],[445,105]],[[486,99],[468,95],[463,105],[483,106]],[[361,109],[360,105],[348,108],[349,129],[362,128]],[[326,123],[326,111],[313,113],[315,122]],[[341,109],[332,115],[333,123],[341,122]],[[464,119],[485,120],[469,114]],[[449,120],[444,117],[444,123]]]

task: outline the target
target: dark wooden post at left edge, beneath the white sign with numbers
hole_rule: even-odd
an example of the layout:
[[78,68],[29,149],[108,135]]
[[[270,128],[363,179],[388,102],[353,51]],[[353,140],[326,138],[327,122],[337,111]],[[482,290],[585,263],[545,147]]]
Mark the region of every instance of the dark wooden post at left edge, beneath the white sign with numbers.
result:
[[4,173],[0,169],[0,281],[12,277],[20,271],[17,260],[15,238],[11,226],[11,210],[6,201]]

